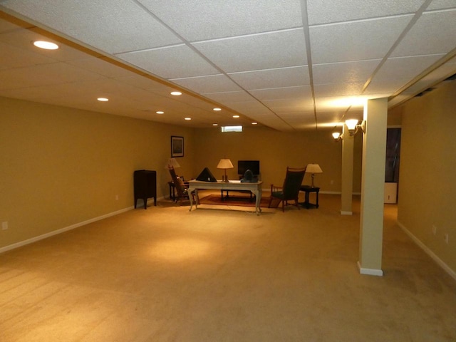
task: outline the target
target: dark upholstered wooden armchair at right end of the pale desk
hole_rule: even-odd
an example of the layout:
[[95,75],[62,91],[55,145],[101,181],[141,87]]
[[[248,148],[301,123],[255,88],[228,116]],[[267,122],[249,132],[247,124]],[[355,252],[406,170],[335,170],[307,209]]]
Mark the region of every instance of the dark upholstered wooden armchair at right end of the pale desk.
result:
[[276,187],[271,184],[271,197],[269,197],[268,207],[271,207],[271,202],[274,201],[274,199],[279,199],[279,204],[282,202],[282,212],[285,212],[285,205],[288,205],[289,200],[294,200],[294,205],[296,205],[298,209],[301,209],[299,207],[298,197],[305,173],[306,167],[301,169],[286,167],[284,185],[282,187]]

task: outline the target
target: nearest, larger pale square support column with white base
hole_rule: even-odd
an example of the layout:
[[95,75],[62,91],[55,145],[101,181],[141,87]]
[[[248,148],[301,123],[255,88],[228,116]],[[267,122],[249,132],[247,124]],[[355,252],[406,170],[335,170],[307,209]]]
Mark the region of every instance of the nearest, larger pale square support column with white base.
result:
[[366,133],[363,136],[361,180],[360,252],[361,274],[383,276],[383,193],[388,99],[368,100],[364,108]]

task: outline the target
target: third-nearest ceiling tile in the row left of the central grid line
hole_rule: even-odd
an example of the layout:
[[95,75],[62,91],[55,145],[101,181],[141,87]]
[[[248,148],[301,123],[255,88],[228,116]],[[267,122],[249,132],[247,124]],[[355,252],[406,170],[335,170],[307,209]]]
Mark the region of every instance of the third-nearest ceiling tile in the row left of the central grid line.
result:
[[294,66],[260,71],[230,73],[234,81],[247,90],[307,86],[309,85],[309,68]]

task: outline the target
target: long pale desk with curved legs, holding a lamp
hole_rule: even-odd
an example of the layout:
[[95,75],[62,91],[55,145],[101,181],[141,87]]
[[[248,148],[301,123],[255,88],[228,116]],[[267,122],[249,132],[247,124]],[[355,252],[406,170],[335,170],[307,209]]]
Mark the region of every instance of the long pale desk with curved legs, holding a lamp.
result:
[[[198,190],[249,190],[255,195],[255,212],[257,215],[261,212],[259,203],[261,202],[261,194],[263,190],[261,185],[263,182],[254,183],[242,183],[240,180],[230,180],[229,182],[201,182],[199,180],[190,180],[188,182],[188,193],[191,194],[195,190],[196,198],[198,198]],[[190,209],[192,211],[193,199],[190,197]],[[199,203],[195,203],[195,207],[198,207]]]

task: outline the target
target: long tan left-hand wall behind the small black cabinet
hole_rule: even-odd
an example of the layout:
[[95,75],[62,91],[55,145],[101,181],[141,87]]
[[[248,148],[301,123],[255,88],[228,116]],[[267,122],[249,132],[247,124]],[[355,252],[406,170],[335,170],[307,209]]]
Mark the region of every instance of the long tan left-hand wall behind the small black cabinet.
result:
[[0,248],[133,206],[134,170],[157,170],[167,194],[171,135],[192,170],[190,129],[7,98],[0,108]]

